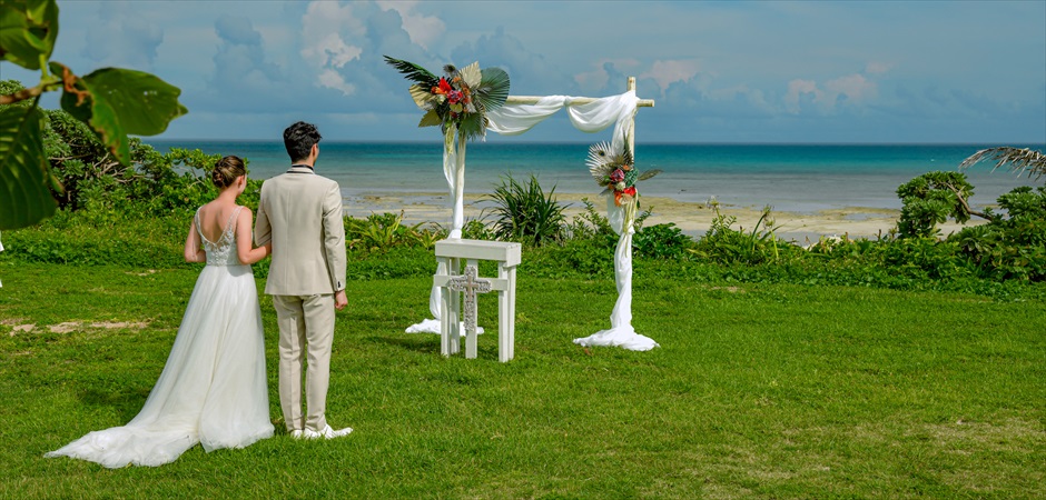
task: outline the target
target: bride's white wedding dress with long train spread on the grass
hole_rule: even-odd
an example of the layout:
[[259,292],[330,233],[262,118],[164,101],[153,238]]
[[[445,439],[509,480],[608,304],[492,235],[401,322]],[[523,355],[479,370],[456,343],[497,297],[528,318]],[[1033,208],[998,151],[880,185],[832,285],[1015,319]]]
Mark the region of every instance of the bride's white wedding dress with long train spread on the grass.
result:
[[175,461],[197,442],[209,452],[273,436],[258,290],[250,266],[236,256],[240,208],[218,241],[208,241],[200,231],[207,266],[196,280],[167,364],[138,416],[45,457],[108,468],[156,467]]

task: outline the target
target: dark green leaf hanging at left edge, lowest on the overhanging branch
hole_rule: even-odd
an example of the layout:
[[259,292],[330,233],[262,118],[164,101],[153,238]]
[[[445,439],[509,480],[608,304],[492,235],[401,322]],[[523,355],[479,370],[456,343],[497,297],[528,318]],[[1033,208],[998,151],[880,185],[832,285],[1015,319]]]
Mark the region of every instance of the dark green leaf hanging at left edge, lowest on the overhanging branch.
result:
[[55,213],[43,154],[43,113],[36,107],[0,110],[0,230],[34,224]]

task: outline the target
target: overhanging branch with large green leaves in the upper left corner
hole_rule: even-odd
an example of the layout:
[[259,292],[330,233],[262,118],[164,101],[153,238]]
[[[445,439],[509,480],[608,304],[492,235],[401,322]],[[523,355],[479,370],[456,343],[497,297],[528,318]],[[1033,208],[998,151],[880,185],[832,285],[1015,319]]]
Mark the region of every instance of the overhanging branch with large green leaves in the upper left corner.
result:
[[134,70],[102,68],[79,77],[50,61],[58,38],[55,0],[10,0],[0,3],[0,58],[41,72],[33,88],[0,96],[0,229],[30,226],[51,217],[61,191],[45,153],[47,114],[39,108],[43,92],[61,90],[61,107],[85,123],[112,158],[134,162],[128,134],[155,136],[185,114],[180,90],[159,78]]

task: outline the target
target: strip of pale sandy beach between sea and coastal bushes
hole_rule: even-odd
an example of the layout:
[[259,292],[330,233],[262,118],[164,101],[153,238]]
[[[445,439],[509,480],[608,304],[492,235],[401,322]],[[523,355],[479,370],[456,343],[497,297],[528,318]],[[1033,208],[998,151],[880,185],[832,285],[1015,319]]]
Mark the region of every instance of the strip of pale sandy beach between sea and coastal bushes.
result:
[[[596,203],[601,213],[605,214],[605,201],[594,194],[556,193],[555,198],[569,203],[568,220],[584,209],[582,198]],[[716,218],[716,210],[707,203],[694,203],[674,200],[672,198],[643,197],[643,208],[652,209],[652,214],[645,224],[674,223],[690,236],[701,236],[708,231]],[[465,196],[465,220],[478,219],[490,212],[493,204],[483,196]],[[414,224],[418,222],[438,222],[447,224],[451,209],[447,207],[447,197],[434,193],[362,193],[347,196],[345,199],[346,214],[352,217],[366,217],[371,213],[403,211],[404,222]],[[737,207],[720,204],[719,211],[726,216],[736,217],[734,229],[751,230],[762,216],[761,207]],[[787,212],[772,211],[773,223],[779,227],[777,233],[780,238],[792,240],[801,244],[816,242],[821,237],[843,237],[875,239],[879,234],[887,234],[897,224],[899,210],[872,207],[842,207],[816,212]],[[487,214],[486,219],[491,217]],[[973,219],[968,224],[983,223]],[[961,224],[949,221],[940,224],[941,234],[958,231]]]

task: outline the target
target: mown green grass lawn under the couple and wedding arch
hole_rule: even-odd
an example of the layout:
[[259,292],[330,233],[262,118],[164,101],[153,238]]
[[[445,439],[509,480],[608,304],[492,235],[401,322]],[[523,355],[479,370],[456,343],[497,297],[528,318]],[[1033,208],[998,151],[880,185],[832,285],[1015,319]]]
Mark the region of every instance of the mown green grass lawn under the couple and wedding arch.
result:
[[351,437],[277,422],[243,450],[107,470],[42,454],[137,413],[196,271],[0,261],[0,498],[1046,496],[1040,300],[637,273],[633,324],[661,347],[630,352],[571,342],[609,327],[612,280],[521,276],[500,363],[493,297],[478,359],[447,359],[403,333],[430,278],[353,281],[328,397]]

